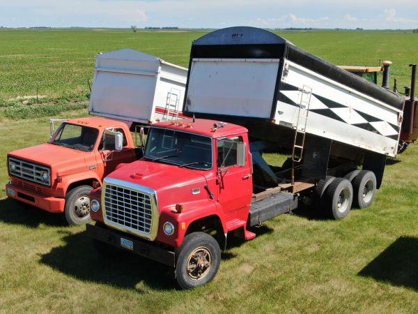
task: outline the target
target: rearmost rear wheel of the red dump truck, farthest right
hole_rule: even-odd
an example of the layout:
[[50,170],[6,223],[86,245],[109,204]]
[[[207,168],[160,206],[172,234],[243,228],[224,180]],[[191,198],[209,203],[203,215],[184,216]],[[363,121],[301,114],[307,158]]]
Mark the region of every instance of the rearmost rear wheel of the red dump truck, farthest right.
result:
[[357,208],[370,206],[376,195],[376,176],[373,172],[362,170],[353,180],[353,204]]

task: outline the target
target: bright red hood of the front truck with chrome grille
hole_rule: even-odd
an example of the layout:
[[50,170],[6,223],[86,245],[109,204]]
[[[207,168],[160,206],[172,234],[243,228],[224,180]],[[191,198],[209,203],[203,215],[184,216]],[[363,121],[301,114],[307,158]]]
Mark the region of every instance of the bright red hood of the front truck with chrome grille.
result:
[[186,200],[196,201],[208,198],[205,189],[206,172],[208,171],[137,160],[120,167],[109,174],[108,177],[152,188],[157,192],[159,207],[161,208]]

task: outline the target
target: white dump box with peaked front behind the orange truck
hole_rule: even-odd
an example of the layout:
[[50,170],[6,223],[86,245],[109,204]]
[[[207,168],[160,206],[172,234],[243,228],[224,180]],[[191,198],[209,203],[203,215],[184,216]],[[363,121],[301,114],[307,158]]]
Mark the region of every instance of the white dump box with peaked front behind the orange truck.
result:
[[90,114],[143,124],[183,110],[187,68],[132,49],[98,54]]

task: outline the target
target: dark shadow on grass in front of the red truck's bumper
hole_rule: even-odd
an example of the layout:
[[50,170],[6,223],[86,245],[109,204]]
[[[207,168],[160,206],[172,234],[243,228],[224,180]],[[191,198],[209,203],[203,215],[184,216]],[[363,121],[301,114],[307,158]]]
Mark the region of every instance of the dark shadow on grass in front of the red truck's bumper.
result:
[[146,258],[123,252],[116,257],[103,257],[95,251],[93,240],[86,232],[70,234],[63,232],[64,246],[52,248],[40,256],[40,262],[81,281],[93,281],[136,290],[143,281],[157,290],[172,290],[176,287],[170,275],[170,267]]

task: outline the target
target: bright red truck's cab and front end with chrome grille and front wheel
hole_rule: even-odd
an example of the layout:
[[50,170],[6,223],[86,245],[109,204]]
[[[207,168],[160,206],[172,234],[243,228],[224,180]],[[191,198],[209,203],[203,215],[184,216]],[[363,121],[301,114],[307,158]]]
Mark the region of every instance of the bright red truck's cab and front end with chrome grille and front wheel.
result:
[[[192,264],[196,269],[187,274],[176,267],[185,288],[209,281],[228,232],[255,237],[247,230],[253,190],[248,143],[246,128],[219,121],[153,125],[144,157],[119,165],[91,193],[96,224],[87,229],[98,249],[104,250],[100,241],[110,241],[170,266]],[[200,232],[205,229],[215,230],[217,241]]]

